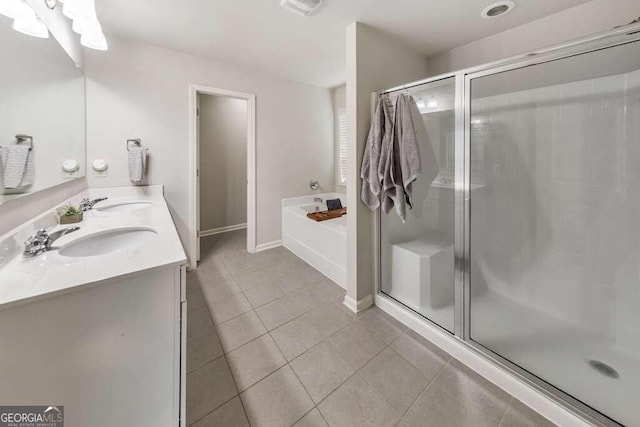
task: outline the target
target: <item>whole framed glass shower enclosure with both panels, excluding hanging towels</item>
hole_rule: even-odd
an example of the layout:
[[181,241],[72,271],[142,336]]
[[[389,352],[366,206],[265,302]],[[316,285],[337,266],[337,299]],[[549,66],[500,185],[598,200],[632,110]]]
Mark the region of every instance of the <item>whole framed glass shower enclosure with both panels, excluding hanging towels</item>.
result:
[[640,426],[639,40],[381,95],[416,100],[429,171],[406,223],[377,216],[381,298],[603,425]]

